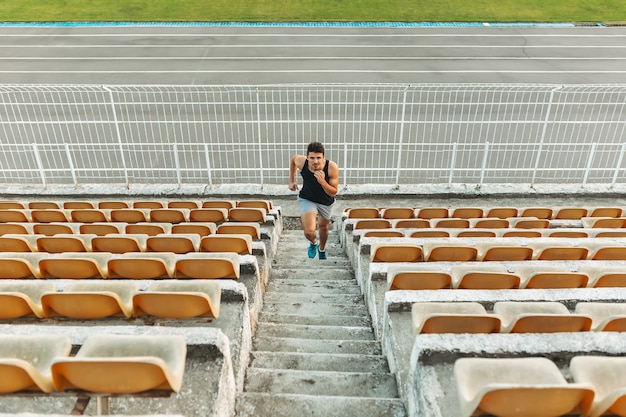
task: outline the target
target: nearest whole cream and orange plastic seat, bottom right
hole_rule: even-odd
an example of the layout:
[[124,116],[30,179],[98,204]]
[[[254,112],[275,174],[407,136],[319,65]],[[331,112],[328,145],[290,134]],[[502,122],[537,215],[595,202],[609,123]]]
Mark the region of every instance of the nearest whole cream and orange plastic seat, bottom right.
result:
[[461,358],[454,363],[461,416],[555,417],[593,400],[588,385],[567,383],[546,358]]

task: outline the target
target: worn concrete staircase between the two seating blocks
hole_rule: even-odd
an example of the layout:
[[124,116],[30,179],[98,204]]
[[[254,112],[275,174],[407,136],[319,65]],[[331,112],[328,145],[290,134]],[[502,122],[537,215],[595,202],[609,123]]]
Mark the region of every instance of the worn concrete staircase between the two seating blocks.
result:
[[328,260],[284,230],[253,339],[239,417],[404,417],[351,265],[331,232]]

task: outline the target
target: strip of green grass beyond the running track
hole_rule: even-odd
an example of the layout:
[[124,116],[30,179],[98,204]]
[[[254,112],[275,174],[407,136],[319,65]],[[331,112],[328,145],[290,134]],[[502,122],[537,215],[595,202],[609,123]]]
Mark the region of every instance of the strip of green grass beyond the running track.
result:
[[616,22],[624,0],[0,0],[0,21]]

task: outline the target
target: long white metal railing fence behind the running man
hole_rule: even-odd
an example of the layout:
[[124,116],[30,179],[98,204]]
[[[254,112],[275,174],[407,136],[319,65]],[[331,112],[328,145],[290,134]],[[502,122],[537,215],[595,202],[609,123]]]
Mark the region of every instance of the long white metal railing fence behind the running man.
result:
[[616,190],[626,86],[0,85],[4,188],[286,190],[312,140],[353,192]]

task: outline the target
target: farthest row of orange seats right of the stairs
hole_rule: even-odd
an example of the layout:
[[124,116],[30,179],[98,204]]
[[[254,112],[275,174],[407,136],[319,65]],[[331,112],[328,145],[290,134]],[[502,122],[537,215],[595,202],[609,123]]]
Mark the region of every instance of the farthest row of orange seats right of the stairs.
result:
[[343,217],[349,219],[435,219],[455,217],[477,219],[493,217],[507,219],[512,217],[536,217],[538,219],[578,220],[582,217],[620,217],[621,207],[355,207],[347,208]]

